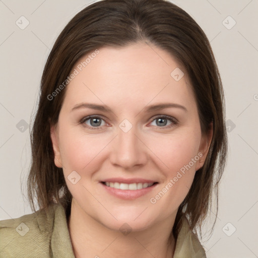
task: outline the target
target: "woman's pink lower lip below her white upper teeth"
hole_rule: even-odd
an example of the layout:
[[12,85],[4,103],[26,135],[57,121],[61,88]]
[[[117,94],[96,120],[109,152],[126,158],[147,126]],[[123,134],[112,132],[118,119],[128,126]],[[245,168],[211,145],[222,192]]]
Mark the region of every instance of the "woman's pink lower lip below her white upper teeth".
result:
[[109,187],[103,183],[100,183],[111,195],[118,197],[123,200],[134,200],[137,199],[141,196],[146,195],[148,192],[152,191],[157,185],[153,184],[150,187],[142,188],[142,189],[137,189],[137,190],[121,190],[121,189],[116,189],[113,187]]

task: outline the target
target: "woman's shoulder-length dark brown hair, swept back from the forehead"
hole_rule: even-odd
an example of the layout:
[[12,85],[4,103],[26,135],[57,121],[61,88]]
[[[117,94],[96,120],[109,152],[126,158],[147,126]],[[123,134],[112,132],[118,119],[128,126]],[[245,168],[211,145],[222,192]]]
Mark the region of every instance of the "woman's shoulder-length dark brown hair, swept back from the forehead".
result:
[[[83,9],[62,30],[48,56],[41,79],[38,109],[31,132],[28,196],[34,211],[34,198],[40,209],[47,209],[53,200],[71,208],[72,195],[62,169],[54,164],[50,139],[50,125],[58,121],[66,89],[59,91],[52,100],[48,96],[67,79],[83,55],[102,46],[123,47],[139,41],[166,50],[182,64],[195,93],[203,134],[208,133],[213,122],[208,156],[204,166],[195,174],[176,215],[171,232],[176,238],[182,216],[188,217],[191,229],[196,230],[197,225],[201,229],[211,206],[213,189],[218,213],[218,183],[226,163],[227,135],[222,82],[209,40],[185,11],[168,1],[103,0]],[[59,196],[61,190],[62,197]]]

